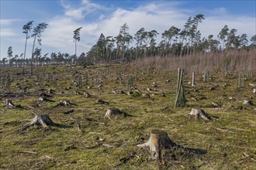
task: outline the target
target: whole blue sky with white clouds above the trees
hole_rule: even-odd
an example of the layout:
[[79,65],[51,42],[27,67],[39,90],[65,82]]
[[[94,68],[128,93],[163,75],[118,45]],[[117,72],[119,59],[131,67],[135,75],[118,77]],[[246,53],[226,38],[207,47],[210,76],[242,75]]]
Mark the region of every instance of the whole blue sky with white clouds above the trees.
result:
[[[87,53],[101,33],[117,36],[126,23],[131,36],[144,27],[146,31],[161,33],[176,26],[182,29],[190,16],[203,14],[199,24],[202,37],[213,34],[217,39],[220,30],[227,25],[237,29],[237,35],[256,34],[256,1],[254,0],[0,0],[0,59],[7,56],[12,46],[13,56],[24,53],[26,35],[22,26],[29,21],[35,27],[40,22],[48,24],[42,33],[42,44],[36,47],[46,53],[74,54],[73,32],[82,27],[78,42],[78,55]],[[31,32],[32,33],[32,32]],[[251,42],[249,42],[250,44]],[[26,58],[31,57],[33,39],[28,39]]]

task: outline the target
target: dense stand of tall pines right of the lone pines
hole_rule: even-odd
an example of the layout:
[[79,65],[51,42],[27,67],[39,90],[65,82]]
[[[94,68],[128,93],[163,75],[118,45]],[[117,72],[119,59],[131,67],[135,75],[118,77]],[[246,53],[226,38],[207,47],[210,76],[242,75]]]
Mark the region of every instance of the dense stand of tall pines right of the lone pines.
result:
[[[129,26],[124,23],[117,36],[99,36],[98,42],[80,60],[99,62],[132,62],[149,56],[177,57],[195,53],[216,53],[230,49],[244,49],[256,45],[256,35],[248,45],[247,34],[237,35],[237,29],[224,26],[214,39],[213,35],[202,38],[198,29],[204,15],[189,17],[182,29],[171,26],[161,33],[161,42],[157,44],[159,33],[156,30],[139,29],[134,36],[129,33]],[[133,42],[135,46],[130,46]]]

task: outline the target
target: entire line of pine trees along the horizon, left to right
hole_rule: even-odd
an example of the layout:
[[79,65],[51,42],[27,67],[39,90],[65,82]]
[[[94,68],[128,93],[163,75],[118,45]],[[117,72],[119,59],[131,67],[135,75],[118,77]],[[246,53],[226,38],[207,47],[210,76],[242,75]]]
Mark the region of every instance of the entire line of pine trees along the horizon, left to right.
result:
[[30,38],[29,32],[32,30],[33,21],[29,21],[22,27],[26,34],[24,53],[13,56],[12,46],[9,46],[7,57],[0,61],[1,65],[24,66],[42,65],[50,63],[111,63],[111,62],[133,62],[137,59],[143,59],[149,56],[162,57],[182,57],[195,53],[216,53],[225,52],[230,49],[247,49],[256,46],[256,35],[251,37],[251,44],[248,45],[247,34],[237,35],[237,29],[230,29],[224,26],[214,39],[213,35],[202,38],[198,29],[199,24],[204,20],[204,15],[198,14],[185,22],[182,29],[171,26],[170,29],[161,33],[161,42],[157,44],[156,30],[147,31],[144,28],[139,29],[133,36],[130,35],[129,26],[124,23],[119,29],[117,36],[105,36],[101,34],[98,41],[88,51],[77,56],[77,42],[80,41],[80,31],[82,27],[74,30],[74,55],[68,53],[51,53],[50,55],[41,54],[41,49],[35,48],[36,41],[41,45],[41,34],[47,29],[47,23],[42,22],[33,28],[31,37],[33,38],[33,50],[31,58],[26,58],[26,43]]

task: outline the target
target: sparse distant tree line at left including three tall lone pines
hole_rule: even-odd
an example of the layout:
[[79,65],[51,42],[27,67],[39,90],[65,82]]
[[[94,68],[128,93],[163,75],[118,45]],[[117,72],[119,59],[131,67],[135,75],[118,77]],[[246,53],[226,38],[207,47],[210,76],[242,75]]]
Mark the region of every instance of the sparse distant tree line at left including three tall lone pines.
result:
[[[69,55],[68,53],[51,53],[50,57],[48,57],[48,53],[43,55],[41,54],[41,49],[36,47],[36,42],[39,46],[41,46],[41,34],[45,29],[47,29],[48,24],[46,22],[39,23],[36,27],[32,28],[33,21],[29,21],[22,27],[23,32],[26,34],[26,41],[25,41],[25,49],[24,53],[21,53],[20,55],[12,55],[12,46],[9,46],[7,50],[7,57],[4,57],[2,60],[0,60],[0,65],[8,65],[9,66],[22,66],[23,71],[22,73],[25,73],[25,65],[30,65],[31,70],[30,73],[33,74],[33,65],[42,65],[42,64],[49,64],[49,63],[74,63],[77,59],[77,42],[80,41],[80,30],[82,27],[74,30],[74,42],[75,42],[75,54]],[[29,36],[29,32],[33,29],[33,33],[31,36]],[[32,37],[33,38],[33,47],[32,47],[32,55],[31,58],[26,58],[26,46],[27,46],[27,40]]]

